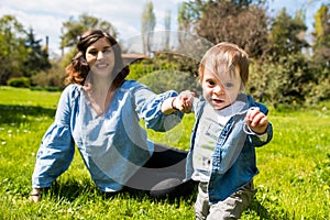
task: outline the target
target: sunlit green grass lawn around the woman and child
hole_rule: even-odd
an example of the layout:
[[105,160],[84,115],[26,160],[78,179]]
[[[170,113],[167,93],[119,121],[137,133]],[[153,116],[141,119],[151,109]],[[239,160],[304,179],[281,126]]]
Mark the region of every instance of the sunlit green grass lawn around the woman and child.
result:
[[[125,193],[105,197],[76,153],[42,202],[31,204],[31,175],[59,92],[0,87],[0,219],[195,219],[191,197],[154,200]],[[271,110],[273,141],[257,148],[257,194],[242,219],[328,219],[330,213],[330,105]],[[189,147],[194,116],[151,139]]]

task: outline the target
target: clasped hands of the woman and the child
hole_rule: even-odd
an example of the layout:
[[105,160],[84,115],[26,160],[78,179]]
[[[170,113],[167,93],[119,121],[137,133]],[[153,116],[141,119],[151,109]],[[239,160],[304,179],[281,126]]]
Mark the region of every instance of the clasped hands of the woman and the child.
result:
[[189,90],[180,92],[172,102],[172,107],[185,112],[191,112],[193,101],[194,101],[195,92]]

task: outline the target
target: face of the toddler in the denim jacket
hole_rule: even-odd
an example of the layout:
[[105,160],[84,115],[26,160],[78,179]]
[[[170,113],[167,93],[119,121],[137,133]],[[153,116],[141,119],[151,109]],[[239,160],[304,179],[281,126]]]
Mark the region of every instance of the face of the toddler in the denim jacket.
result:
[[[235,73],[239,73],[237,69]],[[217,110],[223,109],[237,100],[241,91],[241,77],[239,74],[231,76],[229,73],[215,74],[205,68],[201,81],[205,99]]]

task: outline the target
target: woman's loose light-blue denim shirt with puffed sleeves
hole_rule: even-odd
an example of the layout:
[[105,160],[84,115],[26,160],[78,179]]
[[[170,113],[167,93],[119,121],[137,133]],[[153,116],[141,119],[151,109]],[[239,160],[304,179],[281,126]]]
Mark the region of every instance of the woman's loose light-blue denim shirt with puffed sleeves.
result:
[[134,80],[117,89],[102,116],[91,108],[78,85],[63,91],[55,121],[43,136],[32,176],[33,188],[50,187],[70,165],[75,144],[96,185],[102,191],[118,191],[153,153],[153,142],[140,127],[167,131],[180,122],[183,113],[164,114],[161,103],[176,91],[153,94]]

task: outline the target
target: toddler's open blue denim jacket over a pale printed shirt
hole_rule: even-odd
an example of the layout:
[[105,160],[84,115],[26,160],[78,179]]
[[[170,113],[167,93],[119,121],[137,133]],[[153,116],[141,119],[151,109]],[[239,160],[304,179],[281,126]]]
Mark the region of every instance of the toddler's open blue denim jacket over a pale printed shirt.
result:
[[[266,131],[266,140],[261,140],[260,136],[253,132],[246,133],[246,129],[244,129],[244,119],[249,108],[258,107],[260,110],[266,114],[268,110],[265,106],[254,102],[253,99],[246,95],[240,95],[237,102],[242,108],[240,108],[239,112],[234,112],[229,119],[229,122],[219,134],[213,151],[211,176],[208,183],[209,200],[211,204],[224,200],[253,179],[258,173],[254,147],[268,143],[273,138],[271,123]],[[187,158],[187,179],[191,178],[194,173],[193,150],[197,127],[205,103],[205,99],[201,98],[197,107],[194,108],[196,122]]]

